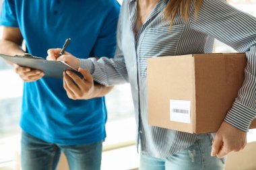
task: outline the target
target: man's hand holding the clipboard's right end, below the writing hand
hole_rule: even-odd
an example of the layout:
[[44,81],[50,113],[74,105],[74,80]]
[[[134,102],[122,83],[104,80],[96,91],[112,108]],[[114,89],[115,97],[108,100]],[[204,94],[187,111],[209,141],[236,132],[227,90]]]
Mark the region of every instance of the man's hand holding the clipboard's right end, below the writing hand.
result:
[[65,71],[63,74],[63,85],[67,91],[67,96],[70,99],[92,99],[96,95],[94,94],[94,80],[92,75],[81,68],[78,71],[84,76],[84,79],[80,79],[72,71]]

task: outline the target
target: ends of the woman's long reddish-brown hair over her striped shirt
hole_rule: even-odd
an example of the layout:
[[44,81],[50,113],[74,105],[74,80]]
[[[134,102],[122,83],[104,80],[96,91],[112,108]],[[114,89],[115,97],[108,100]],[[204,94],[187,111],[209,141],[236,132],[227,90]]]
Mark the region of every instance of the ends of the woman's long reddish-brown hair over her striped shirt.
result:
[[[214,0],[213,0],[214,1]],[[184,21],[189,19],[190,7],[193,3],[193,10],[195,16],[198,15],[203,0],[169,0],[166,9],[164,9],[164,18],[170,19],[170,28],[173,24],[174,18],[178,12]]]

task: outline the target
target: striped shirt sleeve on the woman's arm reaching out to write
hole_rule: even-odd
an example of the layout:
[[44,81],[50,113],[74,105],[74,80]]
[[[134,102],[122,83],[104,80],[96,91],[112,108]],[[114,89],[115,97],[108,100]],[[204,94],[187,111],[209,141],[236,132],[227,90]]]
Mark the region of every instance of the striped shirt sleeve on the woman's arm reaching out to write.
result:
[[[123,8],[124,7],[122,7],[122,9]],[[79,67],[88,70],[94,77],[94,81],[106,86],[128,83],[129,81],[125,58],[121,48],[122,9],[117,24],[117,39],[115,40],[117,42],[117,48],[114,58],[107,58],[106,56],[100,57],[98,60],[96,58],[79,58]],[[104,40],[102,42],[104,42]]]

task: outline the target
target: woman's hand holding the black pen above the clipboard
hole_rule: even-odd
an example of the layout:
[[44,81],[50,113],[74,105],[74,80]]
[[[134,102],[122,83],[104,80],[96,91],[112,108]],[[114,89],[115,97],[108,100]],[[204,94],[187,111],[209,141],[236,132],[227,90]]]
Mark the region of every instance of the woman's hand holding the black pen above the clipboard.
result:
[[61,52],[61,48],[49,49],[47,51],[48,56],[46,57],[46,60],[64,61],[67,63],[67,65],[70,65],[71,67],[73,67],[76,70],[78,69],[79,60],[75,56],[73,56],[69,52],[64,52],[64,54],[62,56],[57,57],[59,55],[59,52]]

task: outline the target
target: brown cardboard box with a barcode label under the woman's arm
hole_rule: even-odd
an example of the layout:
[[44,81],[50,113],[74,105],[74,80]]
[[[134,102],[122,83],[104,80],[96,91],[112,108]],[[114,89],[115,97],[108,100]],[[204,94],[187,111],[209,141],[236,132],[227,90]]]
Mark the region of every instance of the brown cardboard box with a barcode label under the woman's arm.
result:
[[[190,133],[216,132],[243,85],[246,64],[245,54],[149,58],[149,124]],[[251,128],[256,128],[256,120]]]

